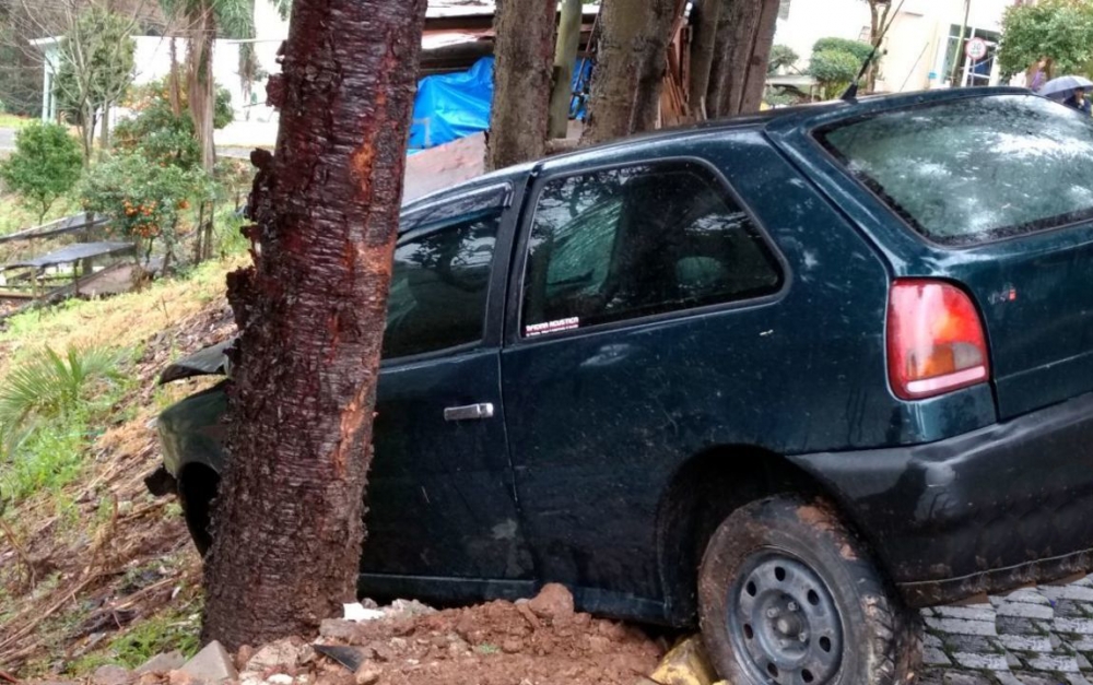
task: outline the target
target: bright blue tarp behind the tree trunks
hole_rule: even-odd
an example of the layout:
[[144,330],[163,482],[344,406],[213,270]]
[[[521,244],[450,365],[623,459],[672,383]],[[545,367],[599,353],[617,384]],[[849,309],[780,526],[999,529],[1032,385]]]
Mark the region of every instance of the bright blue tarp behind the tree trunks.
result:
[[[573,87],[585,92],[591,62],[583,61],[573,74]],[[410,127],[410,154],[443,145],[490,128],[493,101],[493,58],[483,57],[470,71],[425,76],[418,82],[418,96]],[[584,118],[584,98],[575,98],[571,116]]]

